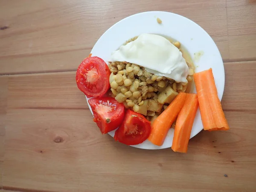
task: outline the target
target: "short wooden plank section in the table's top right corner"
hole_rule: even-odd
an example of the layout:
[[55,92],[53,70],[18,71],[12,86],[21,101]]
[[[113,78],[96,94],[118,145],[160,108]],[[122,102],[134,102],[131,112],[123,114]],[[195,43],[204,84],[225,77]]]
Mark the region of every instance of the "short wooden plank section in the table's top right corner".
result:
[[230,61],[256,60],[256,1],[228,0],[227,26]]

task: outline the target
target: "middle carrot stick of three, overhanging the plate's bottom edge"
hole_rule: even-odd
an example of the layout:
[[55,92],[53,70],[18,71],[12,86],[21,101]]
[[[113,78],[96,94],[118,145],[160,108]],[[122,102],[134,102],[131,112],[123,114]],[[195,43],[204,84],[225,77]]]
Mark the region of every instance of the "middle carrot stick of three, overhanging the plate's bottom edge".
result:
[[198,97],[194,93],[187,93],[183,107],[178,114],[174,137],[172,140],[172,150],[186,153],[188,150],[189,138],[198,109]]

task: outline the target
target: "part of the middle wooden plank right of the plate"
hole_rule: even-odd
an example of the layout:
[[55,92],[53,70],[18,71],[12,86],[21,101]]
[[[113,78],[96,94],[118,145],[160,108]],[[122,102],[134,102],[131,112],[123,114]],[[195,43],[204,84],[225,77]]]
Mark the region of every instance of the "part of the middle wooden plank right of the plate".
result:
[[224,111],[256,113],[256,61],[225,63]]

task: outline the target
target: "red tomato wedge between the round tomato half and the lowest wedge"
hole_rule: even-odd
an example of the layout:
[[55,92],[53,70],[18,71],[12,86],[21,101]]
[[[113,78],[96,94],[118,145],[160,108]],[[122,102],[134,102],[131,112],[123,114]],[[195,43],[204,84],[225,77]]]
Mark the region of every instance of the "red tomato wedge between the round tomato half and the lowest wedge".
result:
[[94,119],[102,134],[113,131],[122,123],[125,106],[112,97],[91,98],[88,100]]

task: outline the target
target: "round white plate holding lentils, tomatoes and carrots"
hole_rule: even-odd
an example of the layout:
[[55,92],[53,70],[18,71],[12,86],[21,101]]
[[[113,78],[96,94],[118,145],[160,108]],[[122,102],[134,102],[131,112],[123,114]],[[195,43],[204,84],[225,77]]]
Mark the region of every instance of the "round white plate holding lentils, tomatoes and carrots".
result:
[[[159,17],[163,23],[157,23]],[[225,84],[224,66],[221,54],[204,29],[186,17],[170,12],[143,12],[120,20],[109,28],[96,42],[91,53],[108,63],[111,53],[118,49],[125,41],[142,33],[159,34],[174,38],[186,47],[196,67],[196,72],[212,67],[219,99],[222,98]],[[196,56],[201,53],[198,59]],[[192,89],[196,93],[195,87]],[[91,108],[90,108],[91,111]],[[92,112],[92,111],[91,111]],[[203,129],[200,111],[197,111],[190,138]],[[115,131],[109,132],[113,137]],[[162,149],[172,146],[174,129],[170,129],[162,146],[150,143],[148,140],[140,145],[131,145],[143,149]]]

